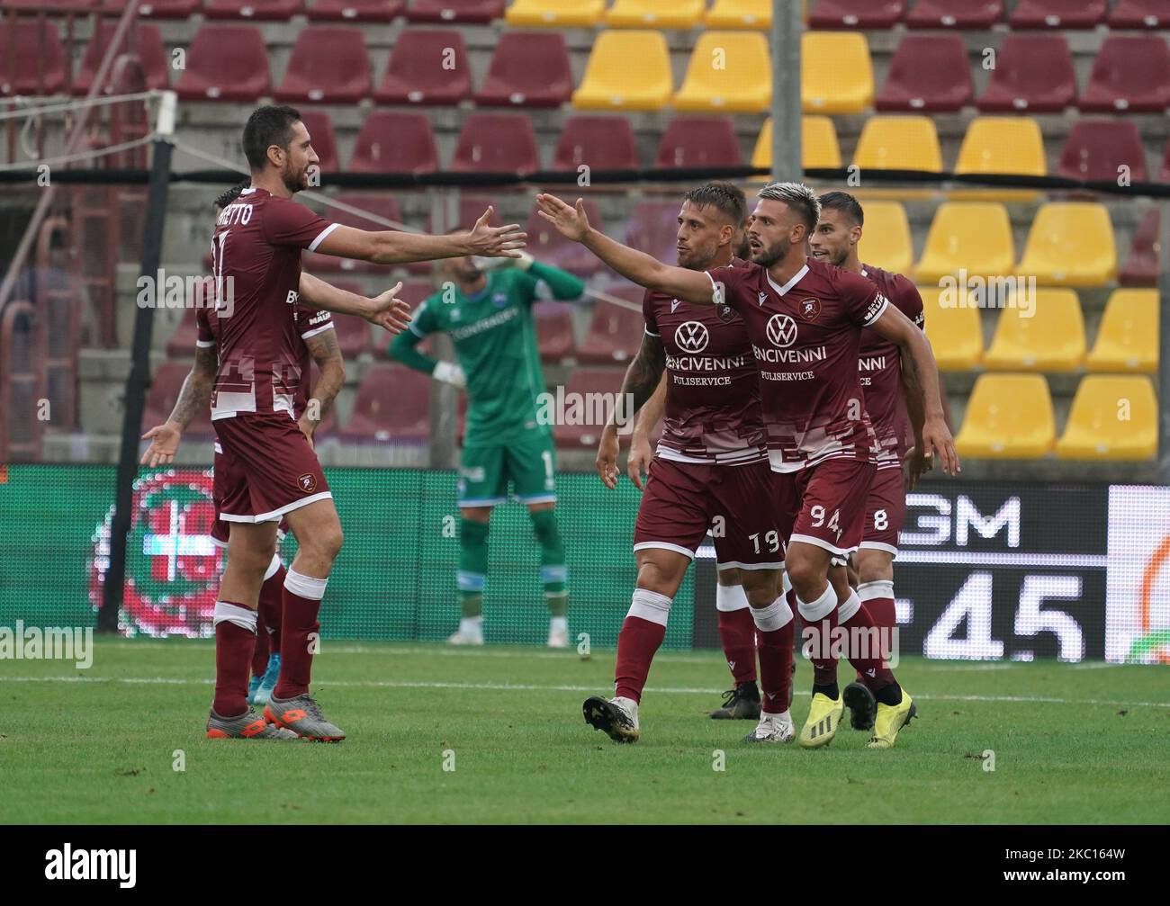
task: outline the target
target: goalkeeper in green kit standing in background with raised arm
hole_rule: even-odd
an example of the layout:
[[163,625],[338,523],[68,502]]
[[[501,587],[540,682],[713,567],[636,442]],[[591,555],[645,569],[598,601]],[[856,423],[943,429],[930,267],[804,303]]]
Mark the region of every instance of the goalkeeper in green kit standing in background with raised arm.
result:
[[[483,267],[488,269],[482,269]],[[390,346],[392,358],[467,390],[467,429],[459,469],[459,596],[462,618],[447,641],[483,644],[483,588],[491,507],[508,484],[528,506],[541,544],[541,582],[549,604],[549,646],[569,646],[565,547],[552,507],[557,500],[552,429],[537,419],[545,393],[532,303],[577,299],[585,284],[557,268],[523,258],[447,258],[442,289],[414,312],[410,330]],[[457,364],[435,361],[415,346],[447,333]]]

